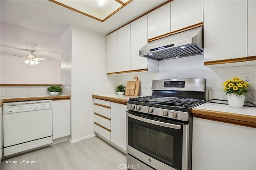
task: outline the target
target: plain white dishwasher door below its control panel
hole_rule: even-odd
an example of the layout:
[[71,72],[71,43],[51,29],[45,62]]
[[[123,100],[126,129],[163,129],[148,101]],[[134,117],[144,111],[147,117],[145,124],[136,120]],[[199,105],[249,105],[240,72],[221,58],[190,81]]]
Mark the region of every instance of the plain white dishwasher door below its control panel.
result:
[[52,136],[52,109],[3,115],[4,147]]

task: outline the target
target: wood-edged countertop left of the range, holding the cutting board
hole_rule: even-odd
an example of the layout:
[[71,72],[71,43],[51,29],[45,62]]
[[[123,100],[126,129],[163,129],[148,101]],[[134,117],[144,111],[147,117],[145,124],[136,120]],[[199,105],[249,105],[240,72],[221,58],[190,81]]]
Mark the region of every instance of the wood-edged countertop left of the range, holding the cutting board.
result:
[[139,96],[126,96],[126,95],[118,95],[118,94],[93,94],[93,98],[101,99],[101,100],[107,100],[110,102],[120,103],[120,104],[127,104],[127,101],[130,98],[137,98]]

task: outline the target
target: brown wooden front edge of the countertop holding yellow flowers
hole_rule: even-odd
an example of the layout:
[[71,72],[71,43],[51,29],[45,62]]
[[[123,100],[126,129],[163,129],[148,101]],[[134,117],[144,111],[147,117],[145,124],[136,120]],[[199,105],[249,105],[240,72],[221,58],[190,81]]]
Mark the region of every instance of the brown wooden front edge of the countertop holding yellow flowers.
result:
[[192,109],[193,117],[256,128],[256,117],[221,111]]

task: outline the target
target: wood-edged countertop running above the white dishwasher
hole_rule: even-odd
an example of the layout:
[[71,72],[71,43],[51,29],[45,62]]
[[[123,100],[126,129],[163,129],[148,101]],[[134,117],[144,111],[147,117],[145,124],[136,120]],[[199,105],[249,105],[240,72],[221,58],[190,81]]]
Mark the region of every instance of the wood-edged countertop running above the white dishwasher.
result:
[[1,96],[0,106],[4,102],[19,102],[19,101],[28,101],[28,100],[67,100],[70,99],[70,95],[57,95],[57,96],[50,96],[50,95],[26,95],[26,96]]

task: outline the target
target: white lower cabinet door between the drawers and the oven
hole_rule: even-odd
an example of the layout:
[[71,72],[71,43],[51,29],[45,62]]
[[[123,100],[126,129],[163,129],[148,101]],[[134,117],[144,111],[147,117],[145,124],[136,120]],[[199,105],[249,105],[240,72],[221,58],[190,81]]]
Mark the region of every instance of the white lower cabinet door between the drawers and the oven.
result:
[[126,105],[111,102],[111,142],[126,150]]

